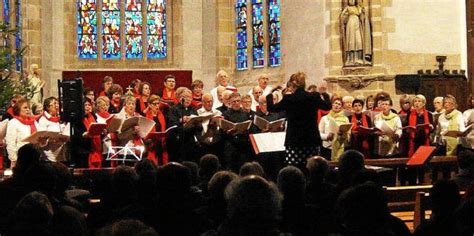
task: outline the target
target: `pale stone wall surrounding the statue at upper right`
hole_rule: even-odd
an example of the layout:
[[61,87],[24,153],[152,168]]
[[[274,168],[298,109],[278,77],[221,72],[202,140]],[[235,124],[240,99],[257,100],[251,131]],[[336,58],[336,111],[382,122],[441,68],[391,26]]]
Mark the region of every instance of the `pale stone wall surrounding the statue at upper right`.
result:
[[[344,69],[340,46],[339,15],[341,0],[327,0],[330,12],[327,39],[330,51],[325,66],[329,88],[339,95],[368,95],[379,91],[394,94],[398,99],[395,83],[397,74],[416,74],[420,69],[436,69],[435,56],[445,55],[445,69],[466,69],[467,50],[465,35],[464,1],[403,1],[366,0],[371,5],[373,36],[373,66]],[[464,19],[464,20],[463,20]],[[348,76],[349,75],[349,76]],[[354,89],[340,78],[377,76],[367,87]],[[394,102],[397,104],[397,102]]]

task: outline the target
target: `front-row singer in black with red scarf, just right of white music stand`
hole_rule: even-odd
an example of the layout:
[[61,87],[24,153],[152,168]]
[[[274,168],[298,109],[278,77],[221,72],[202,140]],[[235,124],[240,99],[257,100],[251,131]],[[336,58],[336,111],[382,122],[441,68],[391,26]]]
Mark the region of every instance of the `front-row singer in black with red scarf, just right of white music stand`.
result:
[[[151,95],[148,98],[148,109],[145,117],[155,121],[155,125],[151,132],[164,132],[166,130],[166,120],[161,113],[160,97],[158,95]],[[153,138],[148,141],[147,157],[152,160],[155,165],[166,165],[168,163],[168,153],[166,151],[165,139]]]

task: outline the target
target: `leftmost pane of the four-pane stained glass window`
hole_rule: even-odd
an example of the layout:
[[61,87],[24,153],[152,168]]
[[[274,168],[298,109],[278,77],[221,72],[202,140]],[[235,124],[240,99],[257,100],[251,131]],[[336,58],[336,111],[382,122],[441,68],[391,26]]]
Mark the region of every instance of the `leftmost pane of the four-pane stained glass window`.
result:
[[77,5],[77,53],[81,59],[96,59],[98,53],[96,0],[78,0]]

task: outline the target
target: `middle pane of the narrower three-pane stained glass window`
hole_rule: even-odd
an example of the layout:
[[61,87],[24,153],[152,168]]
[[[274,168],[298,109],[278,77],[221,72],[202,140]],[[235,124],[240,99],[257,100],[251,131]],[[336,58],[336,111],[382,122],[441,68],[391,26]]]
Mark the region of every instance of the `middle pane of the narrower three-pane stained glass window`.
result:
[[252,0],[252,55],[254,68],[261,68],[265,64],[262,1],[263,0]]

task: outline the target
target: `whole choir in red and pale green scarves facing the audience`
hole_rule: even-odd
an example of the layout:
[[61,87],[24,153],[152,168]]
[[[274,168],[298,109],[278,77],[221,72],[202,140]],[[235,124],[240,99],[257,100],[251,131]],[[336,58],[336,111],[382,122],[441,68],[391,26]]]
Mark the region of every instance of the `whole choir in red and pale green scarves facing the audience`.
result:
[[[193,81],[191,89],[176,89],[176,78],[169,75],[163,80],[162,91],[152,91],[150,83],[136,79],[129,86],[132,89],[124,92],[120,85],[114,84],[112,77],[106,76],[102,91],[85,88],[85,115],[78,125],[83,136],[80,145],[75,147],[79,150],[79,164],[89,168],[115,166],[118,164],[116,161],[105,161],[114,151],[112,147],[130,146],[142,147],[143,158],[157,165],[169,161],[197,162],[202,155],[212,153],[221,159],[224,168],[238,171],[243,163],[258,159],[252,150],[249,134],[275,131],[256,125],[255,117],[269,122],[285,118],[284,111],[267,109],[267,105],[275,106],[295,88],[290,83],[285,88],[272,88],[269,77],[262,75],[257,86],[241,94],[230,84],[225,71],[217,73],[216,82],[218,86],[209,93],[204,92],[200,80]],[[314,122],[322,140],[318,152],[328,160],[337,161],[347,149],[358,150],[366,158],[380,158],[411,157],[423,145],[436,146],[439,155],[454,155],[459,147],[471,148],[471,134],[465,131],[474,122],[472,96],[467,101],[471,109],[462,113],[456,109],[457,101],[452,95],[436,97],[434,101],[426,101],[421,94],[403,95],[400,98],[401,110],[397,112],[392,108],[390,94],[385,92],[367,98],[337,94],[329,97],[326,90],[324,84],[306,89],[308,93],[317,93],[327,103],[317,111]],[[269,94],[273,96],[267,96]],[[272,98],[271,102],[267,101],[269,98]],[[433,102],[434,111],[426,109],[427,102]],[[199,116],[207,118],[193,119]],[[106,124],[108,127],[114,119],[132,117],[145,117],[154,125],[145,135],[144,127],[138,124],[130,132],[108,128],[98,134],[88,132],[93,124]],[[55,131],[69,135],[69,124],[60,121],[56,97],[45,99],[41,109],[41,106],[30,108],[28,99],[15,96],[2,119],[9,120],[8,123],[2,122],[6,135],[0,143],[3,143],[2,155],[5,149],[7,151],[10,167],[15,166],[16,153],[27,143],[25,139],[35,132]],[[245,132],[237,132],[233,128],[223,129],[222,119],[232,123],[250,120],[252,125]],[[277,131],[284,130],[283,124]],[[61,137],[39,138],[38,145],[47,160],[68,159],[67,140]],[[285,162],[291,164],[288,157]],[[410,182],[413,183],[413,178]]]

